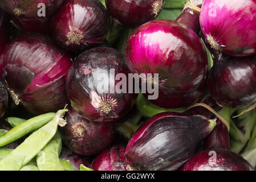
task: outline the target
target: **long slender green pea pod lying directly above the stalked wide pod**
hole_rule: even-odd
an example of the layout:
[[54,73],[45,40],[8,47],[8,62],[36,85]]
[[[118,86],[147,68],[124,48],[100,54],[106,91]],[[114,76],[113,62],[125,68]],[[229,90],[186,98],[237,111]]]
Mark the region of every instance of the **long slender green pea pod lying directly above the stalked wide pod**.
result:
[[55,113],[42,114],[37,117],[31,118],[20,125],[14,127],[8,131],[5,135],[0,137],[0,147],[5,146],[15,140],[24,137],[26,134],[39,129],[39,127],[45,125],[51,119],[55,117]]

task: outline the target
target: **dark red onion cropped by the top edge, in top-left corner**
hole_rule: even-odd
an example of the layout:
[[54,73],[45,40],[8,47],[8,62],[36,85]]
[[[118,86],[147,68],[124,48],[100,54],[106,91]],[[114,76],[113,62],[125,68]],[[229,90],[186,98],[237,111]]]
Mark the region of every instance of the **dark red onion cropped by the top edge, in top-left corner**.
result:
[[11,15],[36,18],[40,9],[39,3],[44,3],[48,16],[58,10],[63,0],[1,0],[0,7]]

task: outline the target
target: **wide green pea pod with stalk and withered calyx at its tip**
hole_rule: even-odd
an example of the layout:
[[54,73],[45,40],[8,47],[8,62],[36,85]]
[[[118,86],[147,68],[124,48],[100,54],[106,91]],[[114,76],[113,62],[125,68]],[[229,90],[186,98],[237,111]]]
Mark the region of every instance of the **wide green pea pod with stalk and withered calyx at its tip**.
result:
[[[41,151],[48,142],[54,137],[58,129],[58,123],[63,122],[63,115],[68,111],[67,109],[59,110],[55,117],[40,129],[36,130],[23,143],[15,148],[6,158],[0,161],[0,166],[4,165],[6,161],[14,160],[14,156],[21,156],[25,154],[22,167],[33,159],[39,151]],[[63,123],[62,123],[63,124]],[[21,124],[22,125],[22,124]],[[20,125],[19,125],[20,126]],[[10,163],[11,164],[11,163]]]

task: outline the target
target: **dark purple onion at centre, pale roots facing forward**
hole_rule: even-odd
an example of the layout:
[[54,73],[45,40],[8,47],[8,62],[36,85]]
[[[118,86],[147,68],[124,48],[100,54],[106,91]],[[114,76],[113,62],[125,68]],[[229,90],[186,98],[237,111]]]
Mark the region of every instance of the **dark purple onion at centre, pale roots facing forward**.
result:
[[67,95],[75,111],[89,121],[115,122],[132,109],[137,94],[128,93],[128,90],[127,93],[107,93],[110,90],[101,93],[98,90],[102,82],[99,74],[108,74],[110,88],[111,69],[115,69],[115,77],[123,73],[128,85],[129,72],[124,59],[119,51],[107,47],[92,48],[78,56],[74,68],[68,72],[66,83]]

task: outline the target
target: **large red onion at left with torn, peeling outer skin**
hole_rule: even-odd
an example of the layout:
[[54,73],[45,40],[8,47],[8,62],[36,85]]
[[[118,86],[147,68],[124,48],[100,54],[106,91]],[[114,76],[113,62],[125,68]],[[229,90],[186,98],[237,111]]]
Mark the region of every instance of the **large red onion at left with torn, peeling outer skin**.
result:
[[71,59],[48,37],[25,33],[6,47],[5,84],[15,104],[34,114],[56,111],[66,104],[65,81]]

